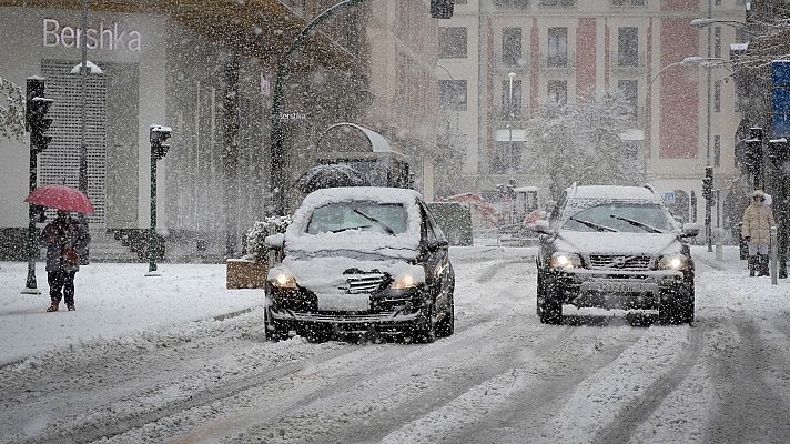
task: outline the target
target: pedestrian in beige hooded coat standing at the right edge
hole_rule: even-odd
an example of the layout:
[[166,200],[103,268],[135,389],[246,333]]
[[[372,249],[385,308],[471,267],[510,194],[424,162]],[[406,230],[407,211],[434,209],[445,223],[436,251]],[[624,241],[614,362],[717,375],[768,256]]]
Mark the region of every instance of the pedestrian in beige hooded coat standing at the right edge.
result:
[[766,193],[754,190],[751,202],[743,212],[741,235],[749,246],[749,275],[767,276],[768,248],[771,242],[771,226],[776,224],[773,211],[766,203]]

